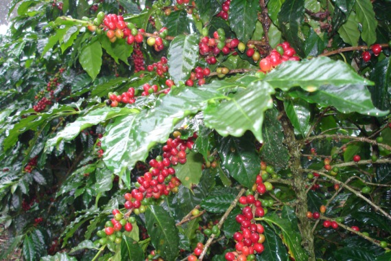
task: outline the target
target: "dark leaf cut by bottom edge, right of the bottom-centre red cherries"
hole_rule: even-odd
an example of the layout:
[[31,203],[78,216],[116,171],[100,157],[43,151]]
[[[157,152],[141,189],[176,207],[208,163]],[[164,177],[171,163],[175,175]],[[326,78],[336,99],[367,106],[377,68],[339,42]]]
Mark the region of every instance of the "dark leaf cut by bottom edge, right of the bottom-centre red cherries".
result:
[[288,260],[287,249],[283,245],[279,234],[276,234],[269,225],[263,224],[263,228],[265,229],[265,233],[263,233],[265,235],[265,242],[263,242],[265,250],[261,255],[257,255],[257,261]]

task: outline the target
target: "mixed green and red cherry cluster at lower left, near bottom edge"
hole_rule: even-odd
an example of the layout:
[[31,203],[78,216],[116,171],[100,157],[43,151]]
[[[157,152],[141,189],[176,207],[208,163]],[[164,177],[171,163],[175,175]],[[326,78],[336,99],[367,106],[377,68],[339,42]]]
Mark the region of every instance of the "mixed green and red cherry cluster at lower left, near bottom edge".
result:
[[100,238],[100,245],[106,245],[108,240],[115,242],[116,244],[121,244],[122,231],[132,231],[132,224],[136,222],[136,218],[134,218],[134,216],[127,218],[126,215],[119,211],[119,209],[113,209],[112,215],[114,217],[105,223],[104,229],[97,231],[97,236]]

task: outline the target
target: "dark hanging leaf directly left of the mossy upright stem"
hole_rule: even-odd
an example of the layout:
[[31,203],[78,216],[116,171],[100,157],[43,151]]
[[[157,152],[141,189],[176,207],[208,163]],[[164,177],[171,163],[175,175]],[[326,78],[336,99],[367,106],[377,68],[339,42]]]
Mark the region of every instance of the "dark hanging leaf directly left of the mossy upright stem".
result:
[[261,157],[272,166],[285,168],[289,160],[289,153],[283,144],[283,128],[277,120],[279,111],[270,109],[265,111],[265,124],[263,124],[263,145]]

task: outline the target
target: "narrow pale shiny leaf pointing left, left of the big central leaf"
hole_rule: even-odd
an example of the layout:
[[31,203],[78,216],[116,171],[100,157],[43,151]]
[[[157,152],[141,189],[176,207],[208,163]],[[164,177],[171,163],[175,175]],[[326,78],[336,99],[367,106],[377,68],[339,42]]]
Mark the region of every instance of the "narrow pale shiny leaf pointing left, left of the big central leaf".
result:
[[85,116],[78,117],[75,122],[72,122],[71,124],[67,124],[67,126],[60,132],[57,133],[56,137],[53,137],[49,139],[46,143],[47,147],[55,146],[62,141],[62,139],[66,141],[70,141],[72,139],[75,139],[80,133],[80,131],[83,131],[86,128],[89,128],[93,125],[97,125],[101,122],[104,122],[106,120],[110,120],[113,117],[117,117],[120,115],[128,115],[132,113],[137,113],[138,111],[135,109],[129,109],[129,108],[111,108],[111,107],[103,107],[98,108],[91,113],[88,113]]

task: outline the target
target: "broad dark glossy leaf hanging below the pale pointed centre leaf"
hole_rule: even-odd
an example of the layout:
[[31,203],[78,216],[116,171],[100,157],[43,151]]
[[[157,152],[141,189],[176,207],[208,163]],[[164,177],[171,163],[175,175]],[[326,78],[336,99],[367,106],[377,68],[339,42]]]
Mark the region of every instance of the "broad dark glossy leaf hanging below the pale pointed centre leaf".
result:
[[259,156],[251,138],[250,135],[217,138],[222,168],[247,188],[252,188],[261,170]]

